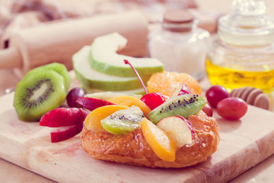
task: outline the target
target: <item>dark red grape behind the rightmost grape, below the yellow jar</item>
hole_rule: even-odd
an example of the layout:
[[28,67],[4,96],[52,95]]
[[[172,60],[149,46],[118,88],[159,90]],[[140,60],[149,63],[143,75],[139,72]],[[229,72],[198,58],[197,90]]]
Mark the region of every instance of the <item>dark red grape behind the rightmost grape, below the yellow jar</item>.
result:
[[228,91],[225,89],[225,87],[220,85],[214,85],[206,91],[206,98],[208,99],[208,103],[210,103],[212,108],[216,108],[219,101],[227,97],[230,97]]

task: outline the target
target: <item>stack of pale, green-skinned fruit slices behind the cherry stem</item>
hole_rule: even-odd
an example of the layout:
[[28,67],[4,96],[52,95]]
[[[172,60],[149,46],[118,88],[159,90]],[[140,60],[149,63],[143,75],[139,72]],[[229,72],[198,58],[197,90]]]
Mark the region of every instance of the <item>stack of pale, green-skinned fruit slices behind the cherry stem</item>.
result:
[[116,91],[144,94],[138,77],[123,59],[132,60],[142,80],[147,83],[152,73],[162,72],[163,64],[153,58],[132,58],[116,53],[127,40],[118,33],[95,38],[73,56],[73,69],[86,93]]

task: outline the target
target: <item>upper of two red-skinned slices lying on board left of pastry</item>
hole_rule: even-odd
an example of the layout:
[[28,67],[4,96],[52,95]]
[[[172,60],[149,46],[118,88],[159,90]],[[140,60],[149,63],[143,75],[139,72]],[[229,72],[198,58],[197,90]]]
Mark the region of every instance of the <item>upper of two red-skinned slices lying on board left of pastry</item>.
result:
[[56,108],[40,119],[41,126],[62,127],[76,125],[84,121],[88,113],[82,108]]

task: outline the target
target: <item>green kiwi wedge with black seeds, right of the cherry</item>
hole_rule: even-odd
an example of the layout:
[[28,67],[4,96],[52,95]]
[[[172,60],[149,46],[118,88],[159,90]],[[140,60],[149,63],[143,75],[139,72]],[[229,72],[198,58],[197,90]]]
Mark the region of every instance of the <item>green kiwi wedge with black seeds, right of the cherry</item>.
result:
[[190,115],[197,114],[206,102],[206,98],[199,95],[179,95],[151,110],[147,117],[153,123],[158,123],[164,117],[182,116],[187,119]]

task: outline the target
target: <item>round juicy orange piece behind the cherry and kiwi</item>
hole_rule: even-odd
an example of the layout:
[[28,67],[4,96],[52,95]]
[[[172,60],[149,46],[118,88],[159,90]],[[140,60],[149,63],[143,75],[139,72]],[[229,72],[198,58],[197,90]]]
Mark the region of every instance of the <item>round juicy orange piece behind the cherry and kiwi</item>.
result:
[[147,82],[149,93],[159,92],[171,97],[182,83],[190,88],[191,94],[201,95],[201,86],[197,80],[187,73],[167,72],[154,73]]

